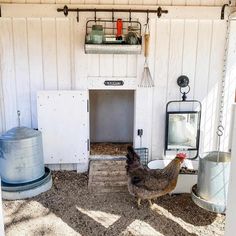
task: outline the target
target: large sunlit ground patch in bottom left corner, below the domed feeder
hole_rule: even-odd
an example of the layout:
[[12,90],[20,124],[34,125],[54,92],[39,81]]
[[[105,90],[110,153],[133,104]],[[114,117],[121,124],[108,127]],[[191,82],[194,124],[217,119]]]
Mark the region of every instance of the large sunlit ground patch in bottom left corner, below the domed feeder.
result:
[[81,236],[60,217],[36,201],[15,201],[4,217],[8,236],[70,235]]

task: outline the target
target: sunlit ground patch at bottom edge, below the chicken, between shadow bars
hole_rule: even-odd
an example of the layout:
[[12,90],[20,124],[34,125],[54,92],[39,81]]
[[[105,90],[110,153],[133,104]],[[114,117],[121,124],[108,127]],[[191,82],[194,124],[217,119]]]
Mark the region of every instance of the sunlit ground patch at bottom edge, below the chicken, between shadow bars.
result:
[[121,235],[126,234],[131,234],[133,236],[163,236],[163,234],[141,220],[132,222]]

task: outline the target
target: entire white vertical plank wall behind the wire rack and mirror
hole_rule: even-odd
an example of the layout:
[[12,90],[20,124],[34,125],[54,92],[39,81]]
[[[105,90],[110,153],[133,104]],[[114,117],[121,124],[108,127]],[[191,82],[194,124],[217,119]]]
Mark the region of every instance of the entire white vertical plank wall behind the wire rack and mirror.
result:
[[[144,23],[145,17],[140,20]],[[73,18],[0,19],[0,132],[17,125],[18,109],[22,125],[37,127],[38,90],[86,88],[88,76],[141,76],[143,55],[85,55],[85,23],[82,14],[79,24]],[[203,104],[202,150],[214,149],[226,22],[152,19],[150,23],[150,69],[156,86],[136,92],[137,103],[149,104],[138,107],[135,117],[137,125],[146,128],[144,145],[152,158],[163,155],[165,105],[179,97],[176,79],[186,74],[191,81],[188,97]]]

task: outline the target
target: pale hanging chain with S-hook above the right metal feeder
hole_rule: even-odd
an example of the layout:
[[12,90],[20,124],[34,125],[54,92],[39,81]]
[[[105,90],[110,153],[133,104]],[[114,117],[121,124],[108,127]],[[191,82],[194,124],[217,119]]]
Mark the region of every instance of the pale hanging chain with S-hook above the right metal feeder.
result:
[[226,69],[227,69],[227,62],[228,62],[228,46],[229,46],[229,31],[230,31],[230,20],[227,20],[226,23],[226,39],[225,39],[225,52],[224,52],[224,65],[222,71],[222,80],[221,80],[221,99],[220,99],[220,111],[219,111],[219,123],[217,127],[216,134],[218,136],[217,142],[217,163],[220,161],[220,145],[221,145],[221,138],[224,135],[224,126],[223,126],[223,113],[224,113],[224,98],[225,98],[225,79],[226,79]]

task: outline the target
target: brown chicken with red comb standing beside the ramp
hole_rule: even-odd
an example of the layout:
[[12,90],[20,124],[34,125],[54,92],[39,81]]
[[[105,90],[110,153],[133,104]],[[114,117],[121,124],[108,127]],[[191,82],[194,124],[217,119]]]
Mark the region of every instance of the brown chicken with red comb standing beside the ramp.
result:
[[185,153],[179,153],[164,169],[150,170],[140,163],[140,157],[133,147],[128,147],[126,170],[128,174],[129,193],[138,199],[148,200],[152,207],[152,199],[173,191],[176,187],[180,166],[186,158]]

